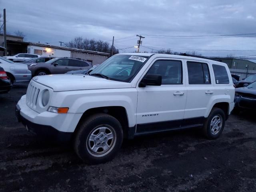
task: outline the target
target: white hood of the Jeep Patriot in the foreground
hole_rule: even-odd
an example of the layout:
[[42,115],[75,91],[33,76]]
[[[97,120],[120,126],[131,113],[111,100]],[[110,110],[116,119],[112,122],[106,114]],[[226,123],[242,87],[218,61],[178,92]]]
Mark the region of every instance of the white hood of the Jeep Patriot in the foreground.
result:
[[51,87],[55,92],[132,87],[130,83],[107,80],[100,77],[82,74],[58,74],[35,76],[32,80]]

